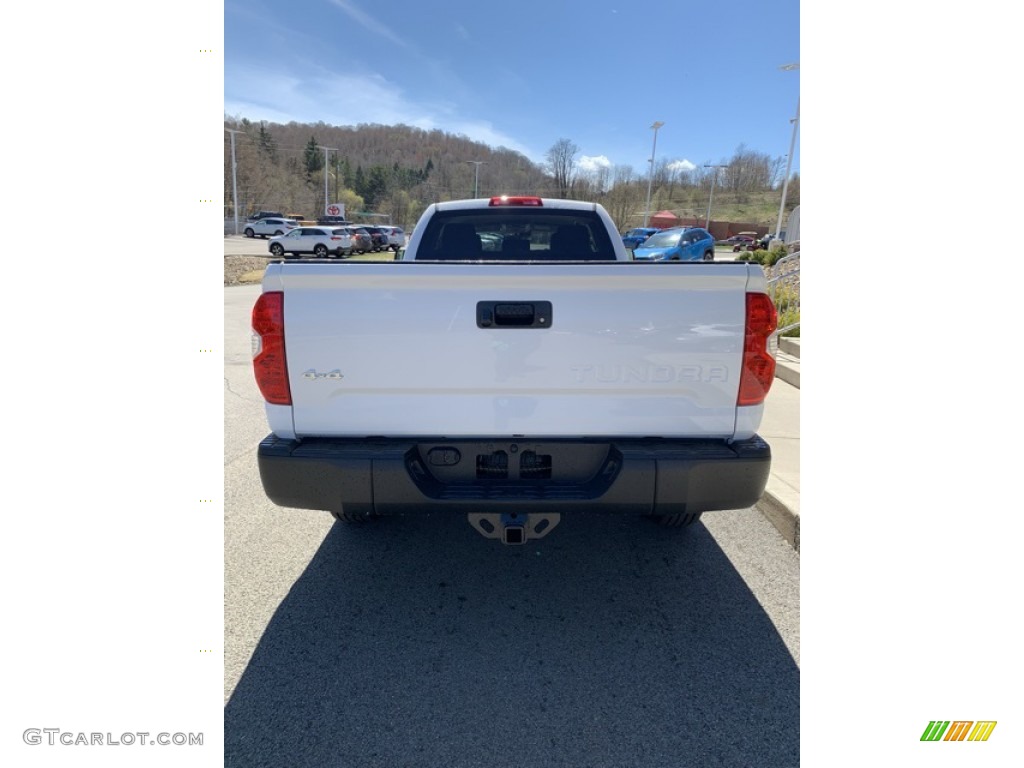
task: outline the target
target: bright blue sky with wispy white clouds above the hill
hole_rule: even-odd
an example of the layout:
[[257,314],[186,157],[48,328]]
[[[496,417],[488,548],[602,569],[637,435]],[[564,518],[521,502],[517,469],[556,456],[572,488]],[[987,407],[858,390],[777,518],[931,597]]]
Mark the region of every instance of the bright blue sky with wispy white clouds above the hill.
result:
[[[226,0],[224,112],[465,134],[583,168],[788,152],[797,0]],[[800,168],[799,136],[794,170]]]

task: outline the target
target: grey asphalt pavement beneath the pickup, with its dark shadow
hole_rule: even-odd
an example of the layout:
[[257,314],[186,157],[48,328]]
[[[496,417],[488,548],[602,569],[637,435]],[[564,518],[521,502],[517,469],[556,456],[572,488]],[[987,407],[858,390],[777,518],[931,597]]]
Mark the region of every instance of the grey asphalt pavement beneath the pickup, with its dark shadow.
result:
[[274,507],[258,291],[224,289],[225,766],[799,765],[800,560],[757,510],[504,547]]

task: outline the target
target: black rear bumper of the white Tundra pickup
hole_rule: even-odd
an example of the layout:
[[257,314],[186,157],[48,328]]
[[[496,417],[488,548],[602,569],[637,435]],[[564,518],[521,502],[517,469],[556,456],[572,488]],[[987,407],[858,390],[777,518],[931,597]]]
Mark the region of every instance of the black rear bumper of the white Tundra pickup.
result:
[[721,440],[420,440],[268,435],[259,444],[274,504],[362,514],[681,514],[753,506],[771,451]]

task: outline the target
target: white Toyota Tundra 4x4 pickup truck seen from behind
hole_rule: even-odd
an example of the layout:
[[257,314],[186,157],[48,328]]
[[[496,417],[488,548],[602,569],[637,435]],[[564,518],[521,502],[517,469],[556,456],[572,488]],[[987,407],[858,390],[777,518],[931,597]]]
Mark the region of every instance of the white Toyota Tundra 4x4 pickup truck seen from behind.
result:
[[633,261],[599,205],[434,204],[399,260],[267,266],[263,488],[345,522],[464,513],[506,544],[562,514],[745,508],[775,327],[759,265]]

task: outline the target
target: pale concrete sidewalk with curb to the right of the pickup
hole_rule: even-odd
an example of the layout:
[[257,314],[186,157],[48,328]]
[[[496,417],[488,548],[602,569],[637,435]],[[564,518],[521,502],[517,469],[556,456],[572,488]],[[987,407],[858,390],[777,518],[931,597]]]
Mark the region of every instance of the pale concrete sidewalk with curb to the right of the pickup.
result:
[[800,551],[800,339],[780,339],[758,434],[771,445],[771,474],[757,507]]

